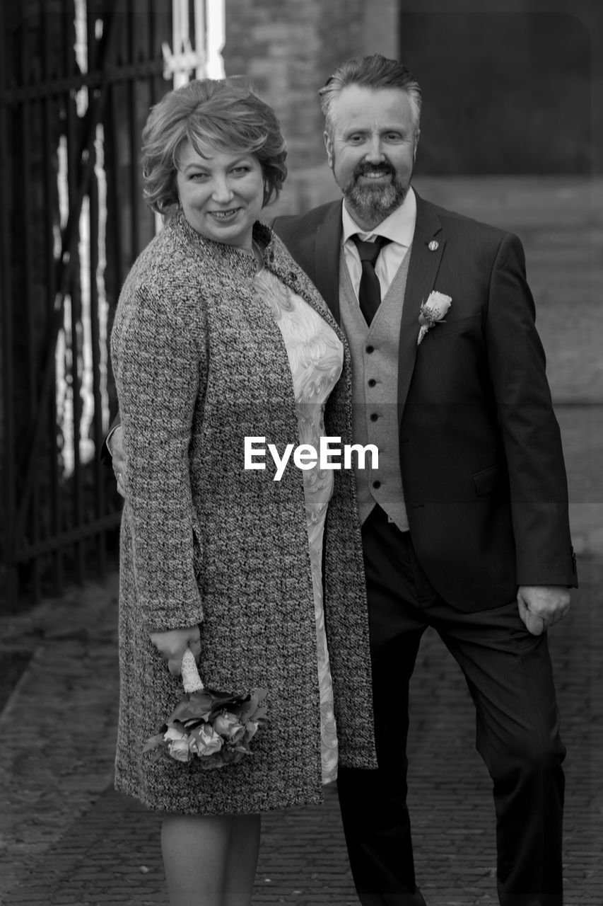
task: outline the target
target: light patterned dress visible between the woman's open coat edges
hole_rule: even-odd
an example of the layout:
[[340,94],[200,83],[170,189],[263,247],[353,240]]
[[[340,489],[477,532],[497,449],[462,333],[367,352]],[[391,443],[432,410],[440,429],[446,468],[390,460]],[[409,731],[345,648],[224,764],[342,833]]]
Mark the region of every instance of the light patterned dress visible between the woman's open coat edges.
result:
[[[254,278],[254,286],[273,314],[284,341],[292,372],[300,444],[320,449],[325,435],[324,407],[330,391],[340,378],[343,347],[320,314],[294,294],[265,268]],[[333,689],[329,651],[322,606],[322,537],[327,507],[333,493],[333,472],[319,463],[304,469],[303,494],[308,526],[308,544],[316,616],[318,674],[321,693],[322,783],[337,778],[337,728],[333,713]],[[287,468],[296,468],[290,458]]]

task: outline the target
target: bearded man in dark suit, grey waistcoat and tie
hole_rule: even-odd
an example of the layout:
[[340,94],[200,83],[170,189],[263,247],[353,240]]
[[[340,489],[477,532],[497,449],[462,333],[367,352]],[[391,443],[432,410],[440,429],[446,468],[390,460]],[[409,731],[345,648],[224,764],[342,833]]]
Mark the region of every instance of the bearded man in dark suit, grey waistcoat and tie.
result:
[[320,94],[343,205],[273,226],[348,336],[354,441],[379,450],[378,470],[357,472],[379,768],[338,780],[359,898],[425,906],[406,745],[433,626],[474,699],[500,902],[560,906],[565,750],[546,631],[577,579],[522,246],[411,188],[421,92],[403,65],[343,63]]

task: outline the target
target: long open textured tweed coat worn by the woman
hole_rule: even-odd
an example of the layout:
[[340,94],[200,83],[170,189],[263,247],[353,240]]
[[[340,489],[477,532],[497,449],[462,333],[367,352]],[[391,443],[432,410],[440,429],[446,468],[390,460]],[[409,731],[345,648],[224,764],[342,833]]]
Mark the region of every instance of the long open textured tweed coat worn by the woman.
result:
[[[327,434],[351,437],[349,351],[280,239],[254,226],[264,265],[344,344]],[[116,786],[159,810],[252,813],[320,802],[320,699],[302,472],[244,470],[244,437],[299,443],[279,327],[254,260],[180,213],[139,255],[120,294],[111,356],[128,458],[120,538]],[[353,472],[335,473],[325,533],[325,620],[340,763],[375,767],[369,624]],[[200,624],[206,686],[268,691],[254,755],[204,771],[142,754],[182,698],[149,632]]]

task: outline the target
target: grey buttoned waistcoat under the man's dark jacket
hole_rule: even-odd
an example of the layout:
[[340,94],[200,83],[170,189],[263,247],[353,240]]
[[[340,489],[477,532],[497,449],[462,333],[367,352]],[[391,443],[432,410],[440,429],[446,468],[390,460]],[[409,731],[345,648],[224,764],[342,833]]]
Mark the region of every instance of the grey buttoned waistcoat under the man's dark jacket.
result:
[[372,467],[370,454],[363,469],[358,456],[352,457],[360,522],[378,503],[402,532],[407,531],[408,520],[398,448],[397,354],[410,253],[409,248],[370,327],[360,311],[345,257],[340,255],[341,327],[352,362],[353,440],[378,448],[378,468]]

